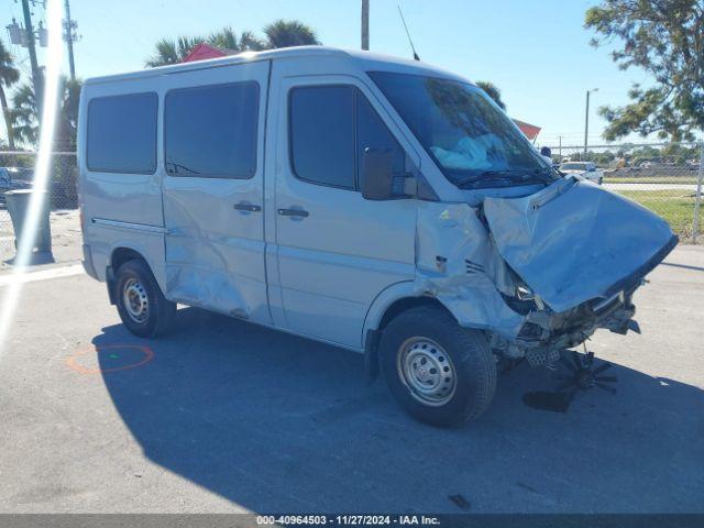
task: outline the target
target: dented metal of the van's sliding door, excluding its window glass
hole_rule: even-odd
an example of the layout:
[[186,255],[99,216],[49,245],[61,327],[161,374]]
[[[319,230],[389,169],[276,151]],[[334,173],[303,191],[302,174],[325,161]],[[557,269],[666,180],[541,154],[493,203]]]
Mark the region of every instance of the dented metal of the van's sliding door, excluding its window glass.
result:
[[[163,178],[165,296],[264,324],[272,322],[263,218],[268,70],[268,62],[258,62],[169,76],[169,90],[239,81],[258,85],[256,169],[243,179],[166,173]],[[166,92],[161,99],[165,97]]]

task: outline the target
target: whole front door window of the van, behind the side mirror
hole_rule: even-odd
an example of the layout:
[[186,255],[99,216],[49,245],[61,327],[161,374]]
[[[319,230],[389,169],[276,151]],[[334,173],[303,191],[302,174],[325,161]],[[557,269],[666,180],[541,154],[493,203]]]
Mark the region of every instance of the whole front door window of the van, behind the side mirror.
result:
[[289,138],[294,174],[310,183],[356,189],[366,148],[393,151],[394,172],[404,172],[404,150],[353,86],[293,89]]

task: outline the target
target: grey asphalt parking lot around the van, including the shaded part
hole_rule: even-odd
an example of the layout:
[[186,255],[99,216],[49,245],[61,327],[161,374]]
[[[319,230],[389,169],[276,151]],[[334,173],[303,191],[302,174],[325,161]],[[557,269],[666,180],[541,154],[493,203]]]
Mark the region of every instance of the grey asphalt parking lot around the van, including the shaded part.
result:
[[413,421],[354,353],[193,308],[140,340],[105,285],[43,278],[0,358],[2,513],[704,512],[702,248],[638,292],[641,336],[588,343],[616,395],[530,408],[557,382],[521,364],[460,429]]

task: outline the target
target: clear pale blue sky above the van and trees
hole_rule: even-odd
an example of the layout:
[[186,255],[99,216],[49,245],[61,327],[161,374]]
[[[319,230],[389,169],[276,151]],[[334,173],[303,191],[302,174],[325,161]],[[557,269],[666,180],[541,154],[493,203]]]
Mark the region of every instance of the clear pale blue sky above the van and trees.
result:
[[[52,1],[52,0],[51,0]],[[53,0],[56,1],[56,0]],[[63,0],[62,0],[63,1]],[[583,28],[594,0],[371,0],[370,48],[410,57],[400,4],[420,58],[502,91],[513,118],[542,128],[538,144],[584,142],[585,94],[591,96],[590,143],[604,143],[605,122],[596,109],[628,101],[640,70],[619,70],[609,50],[594,48]],[[165,36],[208,34],[226,25],[261,34],[275,19],[312,26],[330,46],[360,47],[361,0],[70,0],[78,22],[75,44],[80,78],[142,69],[154,43]],[[42,7],[33,8],[34,23]],[[0,22],[22,20],[21,3],[0,0]],[[8,43],[7,32],[2,38]],[[10,46],[29,76],[26,50]],[[43,53],[40,50],[40,64]],[[65,70],[68,72],[66,63]]]

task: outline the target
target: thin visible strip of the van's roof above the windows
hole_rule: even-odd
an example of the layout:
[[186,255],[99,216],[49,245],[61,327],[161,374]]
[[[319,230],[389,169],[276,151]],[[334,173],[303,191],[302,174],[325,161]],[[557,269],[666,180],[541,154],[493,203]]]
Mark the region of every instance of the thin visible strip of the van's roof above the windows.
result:
[[278,50],[266,50],[263,52],[242,52],[234,55],[228,55],[226,57],[210,58],[206,61],[197,61],[193,63],[173,64],[168,66],[160,66],[156,68],[146,68],[138,72],[130,72],[124,74],[113,74],[100,77],[91,77],[85,80],[86,85],[102,84],[109,81],[128,80],[136,78],[145,78],[164,74],[175,74],[180,72],[198,70],[205,68],[212,68],[218,66],[224,66],[230,64],[242,64],[256,61],[272,61],[272,59],[285,59],[295,57],[308,57],[308,56],[338,56],[343,58],[353,59],[361,64],[364,69],[394,69],[394,70],[415,70],[416,73],[430,74],[435,76],[454,78],[457,80],[463,79],[451,72],[443,70],[441,68],[431,66],[429,64],[411,61],[400,57],[394,57],[392,55],[383,55],[373,52],[365,52],[361,50],[341,50],[330,46],[296,46],[296,47],[283,47]]

